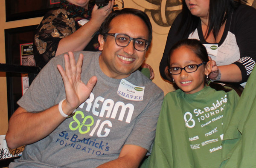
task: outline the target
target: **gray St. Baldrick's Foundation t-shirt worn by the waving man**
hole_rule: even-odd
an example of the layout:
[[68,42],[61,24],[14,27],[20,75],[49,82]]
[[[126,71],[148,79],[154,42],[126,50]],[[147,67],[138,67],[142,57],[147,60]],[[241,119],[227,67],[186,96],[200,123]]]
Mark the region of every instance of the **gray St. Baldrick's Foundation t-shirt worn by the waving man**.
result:
[[[93,168],[118,158],[125,144],[150,148],[163,91],[140,71],[122,80],[110,78],[99,67],[100,52],[74,52],[76,60],[80,53],[84,54],[81,80],[87,83],[93,75],[98,79],[90,97],[49,136],[26,145],[22,157],[10,167]],[[63,55],[41,70],[18,101],[21,107],[43,111],[65,98],[57,64],[64,67]]]

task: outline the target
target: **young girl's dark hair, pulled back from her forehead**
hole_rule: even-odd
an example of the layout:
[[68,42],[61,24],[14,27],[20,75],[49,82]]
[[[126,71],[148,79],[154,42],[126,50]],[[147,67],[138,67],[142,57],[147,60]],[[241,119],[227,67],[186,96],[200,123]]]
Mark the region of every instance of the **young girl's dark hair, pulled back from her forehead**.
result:
[[[183,39],[175,43],[175,45],[172,46],[171,50],[169,51],[169,57],[168,57],[168,67],[170,68],[170,60],[172,53],[175,51],[175,49],[180,48],[181,46],[186,46],[190,48],[195,55],[200,58],[202,62],[208,62],[209,57],[207,54],[207,50],[205,46],[197,39]],[[205,66],[205,65],[204,65]],[[228,92],[232,89],[224,87],[223,85],[219,83],[209,82],[209,79],[205,78],[205,83],[207,83],[211,88],[214,88],[216,91],[225,91]]]

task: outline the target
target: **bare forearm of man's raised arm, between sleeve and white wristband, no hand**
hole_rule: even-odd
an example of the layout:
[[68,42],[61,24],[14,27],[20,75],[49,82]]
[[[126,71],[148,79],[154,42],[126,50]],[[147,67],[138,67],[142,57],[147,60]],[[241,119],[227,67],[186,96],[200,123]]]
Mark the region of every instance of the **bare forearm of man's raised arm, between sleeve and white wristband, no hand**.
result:
[[41,111],[29,113],[19,107],[9,120],[6,142],[9,148],[28,145],[49,135],[65,120],[58,111],[58,105]]

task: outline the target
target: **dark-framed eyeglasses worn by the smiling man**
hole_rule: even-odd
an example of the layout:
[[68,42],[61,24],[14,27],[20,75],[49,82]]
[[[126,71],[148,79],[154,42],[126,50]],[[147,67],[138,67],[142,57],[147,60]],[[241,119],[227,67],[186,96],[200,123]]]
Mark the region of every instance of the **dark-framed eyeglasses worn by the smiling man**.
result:
[[107,33],[105,35],[113,36],[116,40],[116,45],[120,47],[126,47],[130,44],[131,40],[134,40],[134,48],[138,51],[145,51],[148,48],[148,40],[142,38],[132,38],[127,34],[121,33]]

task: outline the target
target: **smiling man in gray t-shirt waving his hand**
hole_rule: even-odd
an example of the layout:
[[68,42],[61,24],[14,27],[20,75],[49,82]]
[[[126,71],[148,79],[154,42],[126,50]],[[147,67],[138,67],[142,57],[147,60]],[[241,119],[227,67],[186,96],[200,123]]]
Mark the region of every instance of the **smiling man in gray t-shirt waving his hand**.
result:
[[53,58],[17,102],[6,141],[26,147],[10,168],[139,166],[163,100],[163,91],[137,71],[151,23],[143,11],[116,10],[99,33],[102,52]]

